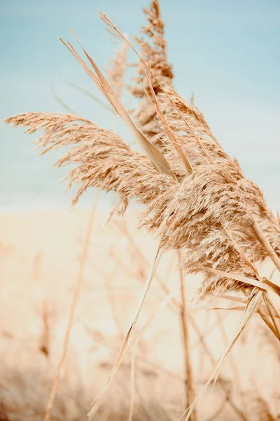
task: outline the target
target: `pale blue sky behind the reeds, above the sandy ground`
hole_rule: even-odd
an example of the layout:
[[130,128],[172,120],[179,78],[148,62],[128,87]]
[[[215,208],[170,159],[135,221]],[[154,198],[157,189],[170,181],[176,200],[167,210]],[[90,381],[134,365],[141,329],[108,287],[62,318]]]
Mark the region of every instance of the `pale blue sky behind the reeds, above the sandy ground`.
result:
[[[106,67],[116,45],[106,39],[99,10],[131,36],[145,23],[141,6],[147,4],[0,0],[0,119],[26,111],[63,112],[54,87],[75,112],[110,128],[111,114],[66,85],[72,81],[99,95],[59,36],[73,40],[73,28]],[[185,98],[195,94],[218,140],[274,201],[280,177],[279,0],[162,0],[161,8],[177,90]],[[121,124],[118,130],[125,133]],[[34,200],[34,189],[41,199],[48,193],[50,201],[64,191],[57,185],[64,172],[50,168],[53,156],[38,158],[29,145],[34,138],[3,124],[0,136],[0,205],[20,206],[25,194]]]

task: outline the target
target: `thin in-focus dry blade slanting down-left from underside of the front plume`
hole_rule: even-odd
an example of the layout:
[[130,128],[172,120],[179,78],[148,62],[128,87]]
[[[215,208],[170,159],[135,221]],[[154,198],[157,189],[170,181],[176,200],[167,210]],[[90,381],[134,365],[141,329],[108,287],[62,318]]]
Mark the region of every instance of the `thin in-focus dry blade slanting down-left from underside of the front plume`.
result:
[[144,285],[144,290],[143,290],[143,295],[141,297],[141,300],[139,301],[139,305],[137,307],[137,312],[132,320],[132,323],[130,324],[130,328],[127,331],[127,334],[125,335],[125,340],[123,341],[123,345],[120,348],[120,352],[118,354],[118,358],[116,359],[115,363],[113,364],[113,367],[111,369],[111,372],[109,374],[109,377],[106,381],[106,385],[104,386],[104,389],[102,390],[102,393],[99,394],[99,397],[97,398],[97,400],[94,403],[94,406],[92,406],[92,409],[90,410],[90,412],[88,413],[88,417],[90,417],[90,420],[92,419],[92,417],[94,417],[94,415],[97,413],[97,410],[99,409],[99,406],[102,403],[102,399],[104,397],[104,394],[106,393],[107,389],[109,388],[109,386],[111,385],[111,382],[113,380],[114,375],[116,375],[118,369],[120,368],[120,364],[122,363],[123,360],[123,356],[125,355],[125,352],[127,352],[127,349],[130,345],[130,339],[134,330],[134,326],[137,323],[137,319],[138,316],[141,312],[141,308],[144,304],[144,300],[146,298],[146,295],[148,293],[148,289],[151,286],[151,282],[153,280],[153,276],[155,274],[155,270],[158,266],[158,262],[160,261],[160,256],[161,256],[161,250],[160,248],[158,248],[157,253],[155,254],[155,259],[153,261],[153,266],[151,267],[151,271],[148,274],[148,278],[146,280],[146,283]]

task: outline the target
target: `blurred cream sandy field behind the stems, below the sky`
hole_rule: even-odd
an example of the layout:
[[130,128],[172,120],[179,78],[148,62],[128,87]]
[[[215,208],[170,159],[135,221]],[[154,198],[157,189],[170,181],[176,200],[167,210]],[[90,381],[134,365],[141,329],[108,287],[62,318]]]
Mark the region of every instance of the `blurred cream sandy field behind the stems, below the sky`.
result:
[[[113,218],[97,210],[71,341],[53,410],[54,420],[86,420],[134,316],[157,242],[137,229],[136,211]],[[55,368],[62,352],[90,213],[85,210],[1,213],[0,215],[0,398],[3,417],[42,420]],[[178,420],[184,408],[184,361],[178,309],[159,281],[179,300],[178,261],[163,255],[144,303],[135,334],[134,420]],[[190,342],[199,394],[213,366],[235,333],[240,312],[214,311],[191,301],[198,276],[186,276]],[[215,307],[220,303],[211,303]],[[195,325],[193,324],[195,323]],[[196,326],[196,328],[195,328]],[[202,344],[202,340],[204,343]],[[279,408],[279,352],[255,316],[241,336],[221,377],[232,401],[248,420],[261,395],[274,414]],[[209,356],[211,353],[211,356]],[[132,393],[130,363],[123,366],[97,414],[102,420],[127,420]],[[253,402],[253,403],[252,403]],[[277,403],[278,402],[278,403]],[[277,407],[278,406],[278,407]],[[198,403],[199,420],[240,419],[225,401],[220,383],[209,386]],[[223,411],[219,413],[219,410]],[[14,414],[18,415],[14,415]],[[261,416],[261,415],[260,415]]]

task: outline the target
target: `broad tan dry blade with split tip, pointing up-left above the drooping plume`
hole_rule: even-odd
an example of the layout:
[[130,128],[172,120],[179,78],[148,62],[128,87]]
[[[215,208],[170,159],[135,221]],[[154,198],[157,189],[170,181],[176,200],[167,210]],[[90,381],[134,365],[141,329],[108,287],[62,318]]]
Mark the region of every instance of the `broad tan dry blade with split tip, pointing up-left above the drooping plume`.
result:
[[[77,37],[76,37],[76,39],[78,40]],[[153,143],[151,143],[146,138],[146,136],[143,133],[141,133],[141,131],[139,131],[139,128],[137,128],[137,126],[134,124],[134,122],[132,121],[130,116],[127,114],[127,111],[123,107],[122,103],[120,102],[120,100],[118,99],[116,94],[113,92],[113,89],[111,88],[109,83],[106,81],[102,72],[100,72],[99,68],[94,63],[94,61],[92,60],[90,55],[87,54],[87,52],[85,51],[85,48],[83,48],[83,46],[80,44],[80,41],[78,41],[78,42],[79,42],[80,46],[83,48],[83,51],[84,51],[85,55],[87,56],[87,59],[90,61],[90,64],[92,65],[92,67],[94,69],[94,72],[96,73],[97,76],[87,67],[85,62],[83,62],[83,60],[78,55],[75,48],[73,48],[73,46],[71,46],[71,44],[69,42],[68,42],[68,45],[64,41],[62,41],[62,42],[66,46],[66,48],[68,48],[69,51],[73,54],[73,56],[78,60],[78,62],[80,62],[80,64],[83,66],[83,68],[85,69],[87,74],[89,74],[89,76],[91,77],[92,81],[94,81],[94,83],[97,85],[97,87],[103,93],[105,98],[110,102],[113,109],[115,109],[116,112],[123,119],[123,121],[125,121],[127,126],[132,131],[132,134],[136,138],[137,142],[142,147],[142,149],[144,149],[144,152],[151,159],[151,162],[153,163],[155,168],[159,171],[159,173],[167,174],[167,175],[171,176],[172,178],[174,178],[174,180],[176,180],[176,178],[174,176],[174,173],[173,173],[172,169],[170,168],[169,163],[168,163],[167,159],[165,158],[165,156],[162,154],[162,152],[160,152],[160,150],[157,147],[155,147],[155,145],[153,145]]]

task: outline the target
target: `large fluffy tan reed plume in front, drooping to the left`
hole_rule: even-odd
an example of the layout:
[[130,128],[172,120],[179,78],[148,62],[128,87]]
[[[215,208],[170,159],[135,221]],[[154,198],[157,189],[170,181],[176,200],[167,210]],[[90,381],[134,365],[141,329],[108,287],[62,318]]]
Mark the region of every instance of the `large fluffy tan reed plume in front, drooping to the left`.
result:
[[[132,150],[118,135],[81,117],[29,112],[6,123],[25,126],[27,133],[43,129],[36,141],[42,154],[74,145],[56,163],[76,164],[67,175],[68,187],[73,182],[80,185],[73,205],[88,187],[118,192],[122,212],[130,199],[144,204],[147,210],[141,225],[158,234],[165,250],[183,250],[186,272],[204,272],[201,298],[252,290],[250,279],[260,281],[256,264],[269,254],[255,233],[255,222],[280,254],[279,224],[260,189],[244,178],[237,163],[220,154],[221,147],[214,142],[215,154],[211,154],[217,163],[202,159],[198,163],[196,158],[193,173],[185,177],[181,173],[176,182],[158,173],[148,157]],[[188,135],[181,140],[187,144]],[[248,278],[248,283],[246,278],[235,280],[237,276]]]

